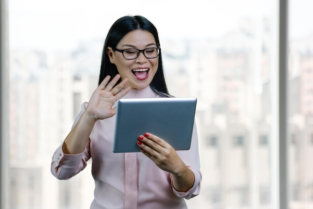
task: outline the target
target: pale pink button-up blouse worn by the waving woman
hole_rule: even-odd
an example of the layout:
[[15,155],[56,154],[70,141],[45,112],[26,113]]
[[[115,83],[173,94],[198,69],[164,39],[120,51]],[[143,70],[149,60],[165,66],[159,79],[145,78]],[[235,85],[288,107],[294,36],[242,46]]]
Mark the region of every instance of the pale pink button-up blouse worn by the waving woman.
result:
[[[147,87],[143,90],[131,90],[123,98],[150,97],[158,96]],[[81,112],[74,124],[86,106],[87,102],[81,105]],[[68,179],[83,170],[91,157],[91,172],[95,182],[91,209],[187,208],[184,199],[199,194],[201,184],[195,124],[190,149],[176,151],[193,171],[195,180],[187,192],[178,192],[172,186],[171,174],[158,168],[141,152],[112,152],[114,122],[115,116],[96,121],[85,149],[80,154],[64,154],[62,143],[52,156],[51,173],[58,179]]]

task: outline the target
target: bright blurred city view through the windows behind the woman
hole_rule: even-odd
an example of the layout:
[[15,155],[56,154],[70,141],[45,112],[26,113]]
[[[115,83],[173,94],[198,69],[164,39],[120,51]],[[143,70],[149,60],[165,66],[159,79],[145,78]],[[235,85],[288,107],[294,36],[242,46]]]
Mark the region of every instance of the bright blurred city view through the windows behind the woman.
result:
[[[4,2],[5,0],[1,0]],[[158,29],[170,94],[196,96],[201,192],[190,209],[277,209],[278,0],[6,0],[7,149],[3,209],[83,209],[91,161],[69,180],[50,174],[54,150],[97,86],[115,20]],[[289,0],[288,207],[313,208],[313,19]],[[280,20],[281,21],[281,20]],[[3,124],[2,124],[3,125]],[[274,148],[273,148],[274,147]],[[3,153],[2,153],[3,154]],[[281,162],[284,163],[284,162]]]

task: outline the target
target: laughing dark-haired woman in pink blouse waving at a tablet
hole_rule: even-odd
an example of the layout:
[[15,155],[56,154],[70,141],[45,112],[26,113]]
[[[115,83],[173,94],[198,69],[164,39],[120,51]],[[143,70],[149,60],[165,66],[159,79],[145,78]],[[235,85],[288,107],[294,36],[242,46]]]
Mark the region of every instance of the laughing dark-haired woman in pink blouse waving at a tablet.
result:
[[168,97],[155,27],[144,17],[125,16],[110,28],[98,88],[52,157],[51,172],[68,179],[92,158],[95,181],[90,208],[187,208],[199,193],[201,173],[196,128],[191,148],[175,151],[142,133],[137,153],[113,153],[115,102],[120,98]]

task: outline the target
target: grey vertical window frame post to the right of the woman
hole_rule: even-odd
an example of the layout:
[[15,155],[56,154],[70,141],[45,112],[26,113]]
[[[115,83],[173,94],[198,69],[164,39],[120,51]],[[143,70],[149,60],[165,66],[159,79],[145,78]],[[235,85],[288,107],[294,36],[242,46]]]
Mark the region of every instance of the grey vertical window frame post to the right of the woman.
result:
[[[278,149],[276,152],[272,153],[274,158],[278,161],[278,166],[275,168],[278,169],[275,172],[276,175],[272,175],[271,179],[273,181],[273,187],[277,186],[277,191],[272,192],[272,207],[273,208],[289,208],[289,179],[288,179],[288,125],[287,125],[287,93],[288,93],[288,71],[287,71],[287,60],[288,60],[288,0],[278,0],[278,77],[273,81],[277,82],[275,85],[277,88],[272,88],[271,91],[277,91],[276,94],[278,97],[271,98],[278,101],[273,102],[272,112],[273,117],[277,117],[276,132],[278,144]],[[273,93],[274,94],[274,93]],[[273,141],[273,140],[272,140]],[[274,142],[275,143],[275,142]],[[275,146],[274,146],[275,147]],[[273,148],[274,148],[273,147]],[[274,164],[273,162],[271,164]],[[271,169],[274,169],[273,166]],[[276,182],[275,182],[276,180]],[[278,184],[278,185],[277,185]],[[273,188],[275,189],[275,188]],[[277,200],[277,203],[275,202]]]

